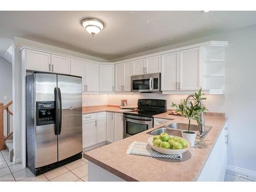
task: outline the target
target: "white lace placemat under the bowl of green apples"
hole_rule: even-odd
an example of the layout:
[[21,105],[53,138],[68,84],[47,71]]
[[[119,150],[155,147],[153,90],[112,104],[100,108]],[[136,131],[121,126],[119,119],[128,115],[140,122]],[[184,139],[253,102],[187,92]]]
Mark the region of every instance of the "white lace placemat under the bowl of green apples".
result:
[[148,143],[137,142],[137,141],[134,141],[129,145],[129,148],[126,150],[126,154],[140,155],[140,156],[147,156],[147,157],[169,158],[169,159],[176,159],[176,160],[182,159],[182,154],[177,154],[177,155],[161,154],[153,150],[153,148],[151,148],[151,146]]

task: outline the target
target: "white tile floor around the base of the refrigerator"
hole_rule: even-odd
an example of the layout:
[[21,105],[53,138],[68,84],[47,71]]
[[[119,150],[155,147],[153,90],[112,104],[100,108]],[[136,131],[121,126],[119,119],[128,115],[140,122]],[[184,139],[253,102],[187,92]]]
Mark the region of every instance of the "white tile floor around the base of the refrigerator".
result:
[[21,163],[10,162],[7,150],[0,152],[0,181],[88,181],[88,161],[83,157],[64,166],[34,176]]

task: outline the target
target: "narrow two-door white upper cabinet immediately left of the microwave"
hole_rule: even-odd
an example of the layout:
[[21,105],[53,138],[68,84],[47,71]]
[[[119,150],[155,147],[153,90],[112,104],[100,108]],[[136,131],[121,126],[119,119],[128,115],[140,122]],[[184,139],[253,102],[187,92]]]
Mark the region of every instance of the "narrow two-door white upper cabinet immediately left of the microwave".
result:
[[131,91],[132,62],[119,63],[115,65],[115,91]]

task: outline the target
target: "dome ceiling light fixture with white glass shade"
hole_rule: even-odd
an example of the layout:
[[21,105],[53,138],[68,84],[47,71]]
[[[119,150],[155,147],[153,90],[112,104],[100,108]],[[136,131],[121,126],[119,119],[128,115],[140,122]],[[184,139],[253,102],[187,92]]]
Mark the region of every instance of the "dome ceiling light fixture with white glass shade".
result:
[[97,18],[84,18],[81,23],[92,36],[98,34],[104,28],[104,23]]

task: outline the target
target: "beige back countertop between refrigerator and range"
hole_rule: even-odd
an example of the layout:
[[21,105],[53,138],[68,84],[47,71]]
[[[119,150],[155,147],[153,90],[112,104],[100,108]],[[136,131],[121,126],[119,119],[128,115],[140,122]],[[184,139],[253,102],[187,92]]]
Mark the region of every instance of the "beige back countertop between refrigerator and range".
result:
[[120,109],[118,105],[97,105],[97,106],[83,106],[82,114],[90,114],[90,113],[100,113],[100,112],[112,112],[112,113],[123,113],[127,111],[127,109]]

